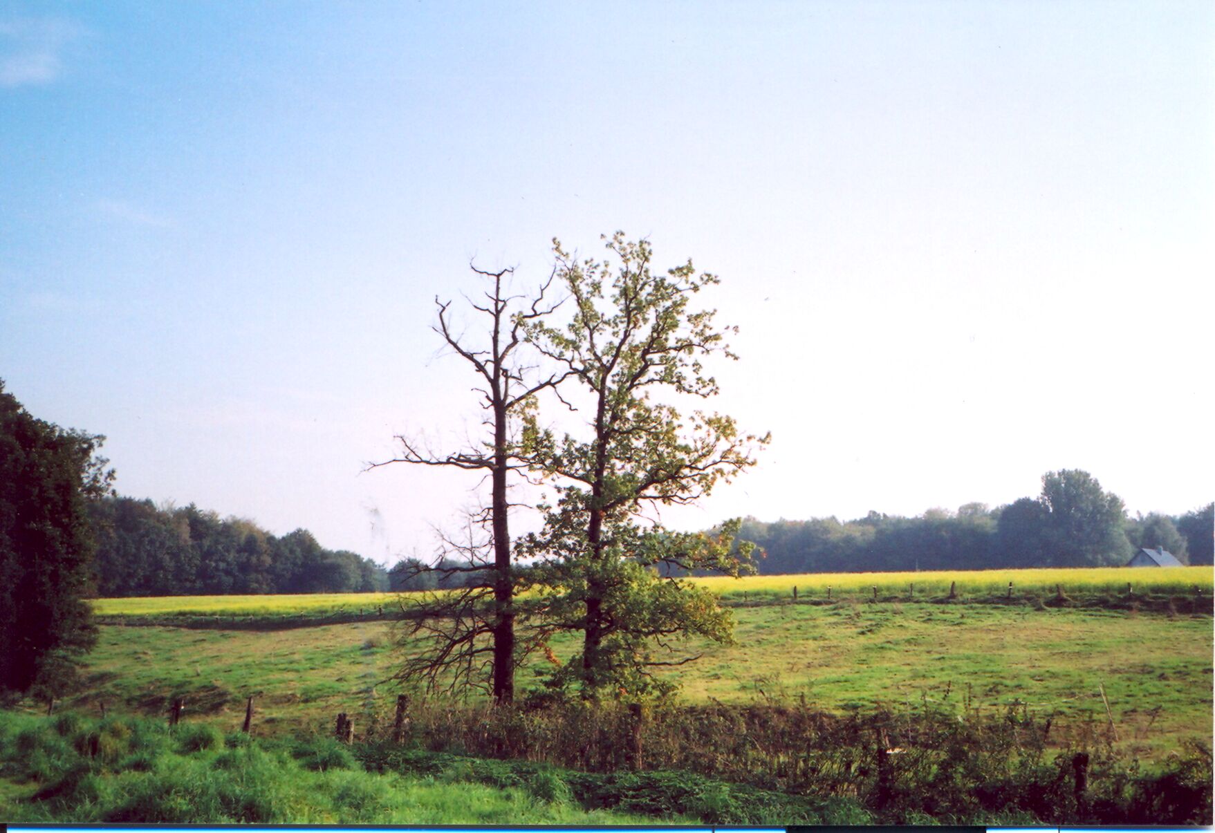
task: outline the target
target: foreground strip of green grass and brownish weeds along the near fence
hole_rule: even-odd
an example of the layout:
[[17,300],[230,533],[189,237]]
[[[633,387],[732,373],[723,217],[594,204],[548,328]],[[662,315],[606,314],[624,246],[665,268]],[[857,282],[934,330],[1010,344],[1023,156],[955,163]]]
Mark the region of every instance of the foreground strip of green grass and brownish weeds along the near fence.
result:
[[[643,771],[616,760],[615,750],[628,746],[618,735],[622,714],[575,704],[530,713],[446,707],[419,713],[403,743],[372,733],[346,746],[318,735],[252,738],[208,724],[0,712],[0,818],[346,824],[1200,824],[1211,818],[1210,748],[1202,744],[1189,744],[1164,771],[1146,773],[1108,750],[1051,755],[1042,743],[1049,724],[1027,720],[959,721],[933,713],[915,720],[831,720],[802,710],[710,707],[661,715],[666,729],[650,738],[656,743],[646,754],[679,769]],[[546,742],[548,758],[580,769],[546,763],[538,754]]]

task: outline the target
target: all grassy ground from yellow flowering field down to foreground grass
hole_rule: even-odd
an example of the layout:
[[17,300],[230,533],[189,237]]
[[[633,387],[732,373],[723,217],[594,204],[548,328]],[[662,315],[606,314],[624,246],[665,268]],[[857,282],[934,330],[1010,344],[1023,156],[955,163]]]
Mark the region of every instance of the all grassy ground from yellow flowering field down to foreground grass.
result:
[[[106,624],[83,687],[50,718],[32,702],[0,713],[0,810],[34,821],[1209,821],[1211,579],[1210,567],[695,579],[729,606],[735,641],[683,648],[702,656],[646,724],[655,772],[620,769],[620,704],[529,716],[416,698],[412,739],[385,744],[399,691],[386,680],[408,650],[394,647],[391,594],[96,600]],[[576,644],[553,647],[563,657]],[[524,701],[548,669],[520,669]],[[168,730],[176,697],[188,725]],[[252,739],[236,731],[247,697]],[[352,747],[330,739],[339,712],[355,720]],[[112,725],[126,729],[100,754],[89,733]],[[866,763],[875,738],[908,747],[885,786]],[[1068,786],[1078,749],[1094,754],[1084,806]],[[1005,792],[979,789],[995,782]]]

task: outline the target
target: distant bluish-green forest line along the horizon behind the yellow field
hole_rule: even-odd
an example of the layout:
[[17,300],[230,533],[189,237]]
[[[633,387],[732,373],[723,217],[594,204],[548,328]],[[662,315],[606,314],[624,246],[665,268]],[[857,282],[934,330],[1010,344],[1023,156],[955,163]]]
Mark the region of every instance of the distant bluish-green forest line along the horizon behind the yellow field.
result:
[[[1112,537],[1098,537],[1100,555],[1089,560],[1061,555],[1049,521],[1040,501],[1025,498],[995,509],[977,503],[956,512],[931,509],[916,517],[747,518],[740,539],[759,545],[756,566],[763,574],[1124,563],[1140,546],[1163,546],[1187,563],[1213,561],[1213,504],[1185,515],[1121,520],[1107,531]],[[252,521],[221,518],[193,504],[106,498],[94,504],[92,522],[101,596],[373,593],[467,580],[458,572],[428,572],[413,559],[385,570],[356,552],[324,549],[306,529],[276,537]]]

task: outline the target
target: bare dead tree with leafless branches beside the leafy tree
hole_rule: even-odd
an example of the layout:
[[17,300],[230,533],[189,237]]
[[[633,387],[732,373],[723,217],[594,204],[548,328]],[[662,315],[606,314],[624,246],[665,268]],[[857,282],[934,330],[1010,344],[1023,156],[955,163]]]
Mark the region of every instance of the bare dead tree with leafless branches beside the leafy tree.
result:
[[[515,579],[508,520],[512,505],[507,491],[512,472],[526,477],[527,469],[519,459],[512,429],[514,418],[529,408],[541,391],[555,391],[570,374],[544,375],[520,358],[525,329],[560,306],[560,301],[546,301],[554,276],[549,276],[535,298],[527,299],[510,295],[507,289],[508,276],[513,276],[514,270],[487,272],[473,264],[469,268],[492,285],[484,293],[484,301],[465,296],[485,324],[482,332],[487,333],[487,339],[474,345],[464,333],[457,334],[452,302],[437,296],[439,322],[433,329],[479,376],[480,384],[474,391],[481,395],[481,407],[486,412],[481,421],[486,441],[443,454],[397,435],[401,447],[397,457],[373,463],[368,469],[408,463],[486,475],[490,504],[470,516],[467,540],[457,543],[443,538],[443,552],[460,556],[460,562],[452,563],[441,556],[437,565],[416,571],[435,574],[441,585],[457,574],[471,574],[468,577],[471,580],[463,582],[460,588],[426,594],[419,604],[409,605],[409,616],[402,617],[407,624],[401,636],[412,640],[411,652],[394,676],[402,682],[422,681],[429,691],[447,693],[487,687],[496,702],[509,703],[514,698],[514,673],[521,656],[515,640]],[[491,682],[485,686],[487,679]]]

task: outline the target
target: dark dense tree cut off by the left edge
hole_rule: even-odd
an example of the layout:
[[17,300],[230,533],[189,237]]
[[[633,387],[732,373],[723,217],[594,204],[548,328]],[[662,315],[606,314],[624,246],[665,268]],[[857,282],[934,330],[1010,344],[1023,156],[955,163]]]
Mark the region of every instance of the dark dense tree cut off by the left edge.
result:
[[0,692],[67,691],[96,640],[87,501],[113,472],[104,437],[32,416],[0,381]]

